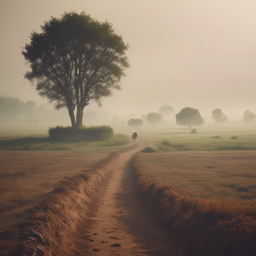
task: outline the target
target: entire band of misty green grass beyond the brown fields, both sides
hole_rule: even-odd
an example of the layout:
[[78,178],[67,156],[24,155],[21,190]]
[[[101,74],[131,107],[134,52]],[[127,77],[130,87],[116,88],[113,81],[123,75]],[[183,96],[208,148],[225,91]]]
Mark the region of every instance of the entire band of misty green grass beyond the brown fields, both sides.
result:
[[[114,126],[117,134],[104,141],[51,143],[47,141],[48,127],[0,126],[0,150],[81,150],[110,152],[118,150],[131,141],[132,132],[138,133],[138,142],[150,141],[157,152],[172,151],[214,151],[214,150],[256,150],[256,125],[242,122],[222,125],[204,124],[196,128],[196,134],[190,134],[187,127],[177,124],[166,126],[142,126],[137,129],[127,125]],[[33,136],[22,141],[21,137]],[[219,138],[218,138],[219,137]],[[17,139],[17,140],[13,140]],[[3,141],[8,141],[4,143]]]

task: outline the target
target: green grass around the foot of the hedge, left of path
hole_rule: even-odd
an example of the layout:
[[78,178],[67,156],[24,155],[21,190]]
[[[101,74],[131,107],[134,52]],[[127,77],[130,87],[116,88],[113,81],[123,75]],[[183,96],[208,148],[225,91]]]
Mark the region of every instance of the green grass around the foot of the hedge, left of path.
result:
[[115,134],[102,141],[84,141],[74,143],[52,142],[47,126],[37,125],[0,125],[0,151],[84,151],[113,152],[128,145],[129,137]]

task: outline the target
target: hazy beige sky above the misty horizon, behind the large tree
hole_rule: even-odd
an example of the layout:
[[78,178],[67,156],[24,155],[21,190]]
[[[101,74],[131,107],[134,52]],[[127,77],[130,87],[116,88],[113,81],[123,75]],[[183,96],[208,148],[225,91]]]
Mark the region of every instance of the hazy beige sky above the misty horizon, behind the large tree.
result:
[[0,0],[0,96],[47,103],[23,77],[21,50],[44,21],[71,10],[108,20],[130,45],[123,89],[102,109],[256,113],[255,0]]

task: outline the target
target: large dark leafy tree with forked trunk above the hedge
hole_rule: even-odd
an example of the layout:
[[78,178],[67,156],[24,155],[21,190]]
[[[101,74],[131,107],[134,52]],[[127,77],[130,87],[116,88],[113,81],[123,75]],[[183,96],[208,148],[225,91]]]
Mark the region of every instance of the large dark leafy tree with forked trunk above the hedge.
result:
[[22,51],[30,65],[25,78],[56,109],[67,108],[72,127],[80,127],[89,102],[101,106],[103,97],[120,90],[129,67],[128,45],[109,22],[101,23],[84,12],[52,17],[41,28],[41,33],[31,34]]

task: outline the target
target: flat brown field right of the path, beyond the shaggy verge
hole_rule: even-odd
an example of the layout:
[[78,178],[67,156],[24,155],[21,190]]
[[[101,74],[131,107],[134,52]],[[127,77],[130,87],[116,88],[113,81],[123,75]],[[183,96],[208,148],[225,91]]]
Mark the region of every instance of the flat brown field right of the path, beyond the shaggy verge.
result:
[[148,179],[202,199],[256,203],[256,151],[140,154]]

